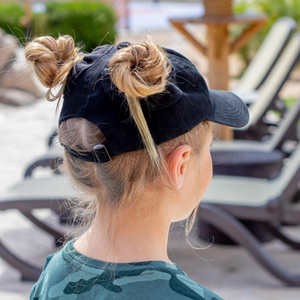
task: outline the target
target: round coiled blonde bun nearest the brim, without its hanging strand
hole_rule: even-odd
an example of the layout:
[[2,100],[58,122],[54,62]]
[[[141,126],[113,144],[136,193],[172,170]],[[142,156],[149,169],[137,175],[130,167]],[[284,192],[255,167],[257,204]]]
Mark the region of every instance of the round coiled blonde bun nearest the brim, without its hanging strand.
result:
[[130,97],[145,98],[165,90],[170,68],[165,52],[151,41],[121,48],[111,58],[110,76]]

